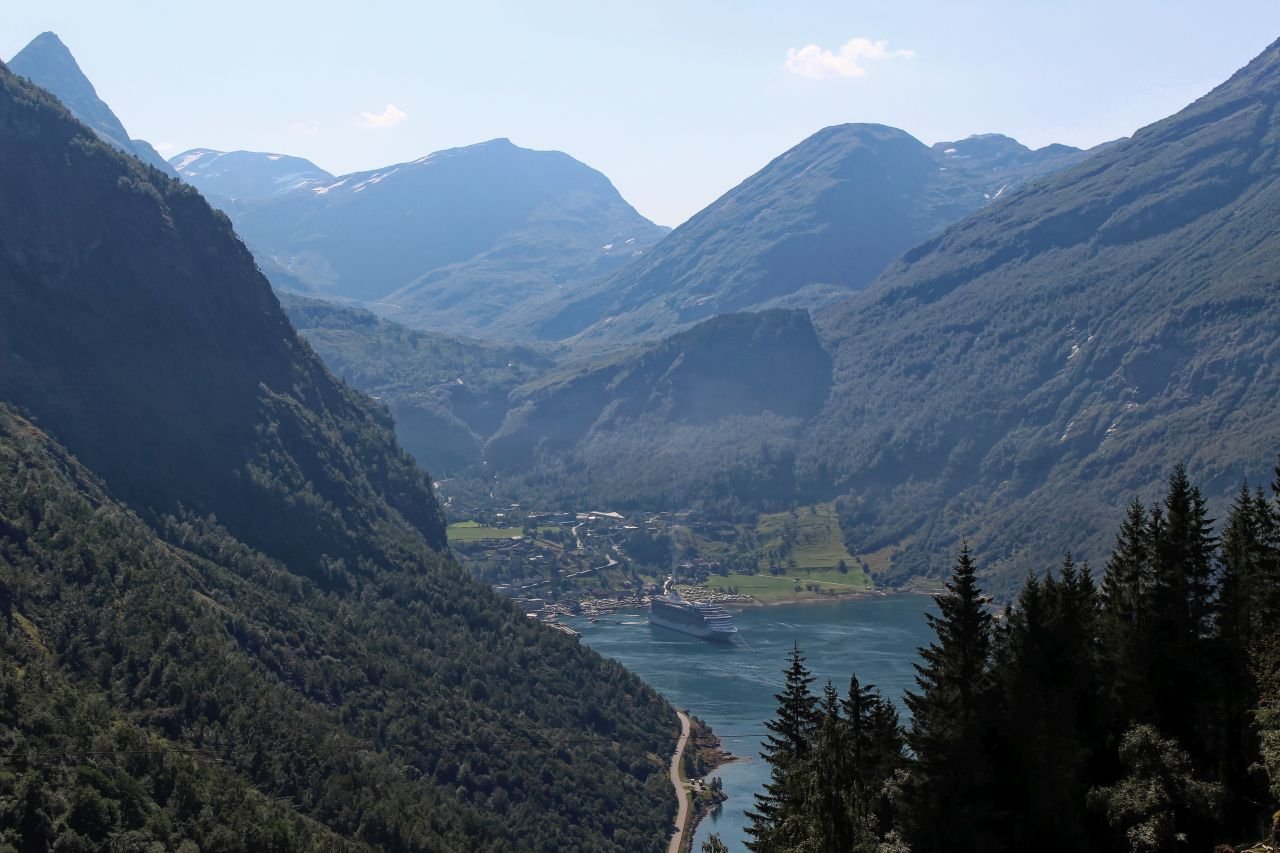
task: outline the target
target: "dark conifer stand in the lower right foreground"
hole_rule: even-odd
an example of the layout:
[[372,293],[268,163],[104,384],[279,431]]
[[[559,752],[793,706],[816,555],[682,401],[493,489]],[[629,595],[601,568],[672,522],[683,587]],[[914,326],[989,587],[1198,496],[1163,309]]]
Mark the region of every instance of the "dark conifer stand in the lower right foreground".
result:
[[796,649],[749,847],[1157,853],[1274,833],[1280,467],[1272,491],[1242,487],[1215,535],[1178,466],[1101,580],[1068,556],[1000,613],[964,546],[906,727],[856,675],[815,694]]

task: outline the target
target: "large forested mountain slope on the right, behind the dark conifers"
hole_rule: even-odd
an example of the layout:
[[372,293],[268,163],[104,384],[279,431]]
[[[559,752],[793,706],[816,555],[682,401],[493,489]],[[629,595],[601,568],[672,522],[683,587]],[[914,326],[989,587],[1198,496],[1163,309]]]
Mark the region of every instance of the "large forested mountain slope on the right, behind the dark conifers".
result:
[[[941,570],[1094,561],[1187,462],[1221,512],[1277,451],[1280,42],[1183,111],[906,252],[817,318],[836,384],[799,460],[846,535]],[[1023,547],[1020,543],[1025,543]]]

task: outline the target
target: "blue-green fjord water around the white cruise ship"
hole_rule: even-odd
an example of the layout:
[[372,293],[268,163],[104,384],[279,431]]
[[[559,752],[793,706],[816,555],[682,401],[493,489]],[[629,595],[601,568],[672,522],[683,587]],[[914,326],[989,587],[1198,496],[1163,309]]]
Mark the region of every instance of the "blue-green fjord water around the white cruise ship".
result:
[[735,613],[739,637],[731,646],[708,643],[649,625],[645,613],[618,613],[598,622],[573,620],[582,642],[623,663],[678,708],[705,720],[724,748],[748,761],[717,770],[730,799],[698,827],[694,849],[718,833],[731,850],[742,850],[744,812],[768,779],[760,758],[764,721],[776,712],[773,694],[799,643],[813,671],[814,692],[831,679],[844,695],[849,675],[876,684],[901,710],[902,690],[913,684],[916,648],[933,639],[924,613],[927,596],[886,596],[773,607]]

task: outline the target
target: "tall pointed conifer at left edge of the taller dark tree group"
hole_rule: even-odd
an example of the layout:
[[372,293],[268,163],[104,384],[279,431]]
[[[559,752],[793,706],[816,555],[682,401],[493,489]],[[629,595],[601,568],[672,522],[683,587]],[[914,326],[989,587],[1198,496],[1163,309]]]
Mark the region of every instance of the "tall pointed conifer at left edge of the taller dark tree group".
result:
[[914,753],[904,790],[904,829],[916,853],[996,850],[986,752],[991,717],[992,617],[983,606],[968,543],[946,593],[929,613],[937,640],[920,649],[908,744]]

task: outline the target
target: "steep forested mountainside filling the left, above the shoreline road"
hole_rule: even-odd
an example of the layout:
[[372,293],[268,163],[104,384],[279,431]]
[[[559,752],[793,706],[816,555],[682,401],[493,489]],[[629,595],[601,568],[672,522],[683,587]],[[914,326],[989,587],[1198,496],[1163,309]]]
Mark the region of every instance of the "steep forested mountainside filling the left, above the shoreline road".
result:
[[445,553],[225,216],[3,67],[0,186],[0,844],[666,847],[672,708]]

